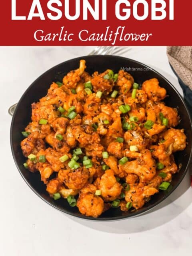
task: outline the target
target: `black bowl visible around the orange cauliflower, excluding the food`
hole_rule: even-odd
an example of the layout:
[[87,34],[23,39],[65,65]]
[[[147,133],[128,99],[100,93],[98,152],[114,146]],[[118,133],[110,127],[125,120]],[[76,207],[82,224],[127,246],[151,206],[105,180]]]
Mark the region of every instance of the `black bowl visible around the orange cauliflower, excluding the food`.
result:
[[[22,155],[22,151],[20,148],[20,142],[23,140],[21,131],[23,131],[28,122],[30,122],[31,104],[33,102],[37,102],[40,98],[42,98],[42,96],[46,95],[46,92],[53,81],[62,81],[63,76],[67,72],[78,68],[79,61],[81,59],[86,60],[86,71],[90,74],[92,74],[96,70],[99,72],[103,72],[106,69],[112,69],[115,72],[118,72],[120,68],[131,68],[131,70],[128,70],[128,72],[132,74],[135,81],[139,84],[142,84],[142,82],[150,78],[157,78],[160,82],[160,86],[164,87],[167,90],[167,94],[169,95],[169,97],[165,100],[166,104],[168,106],[178,108],[179,114],[181,116],[182,121],[178,125],[178,128],[185,129],[185,133],[188,138],[188,144],[184,151],[177,152],[175,156],[176,164],[182,164],[180,172],[173,176],[172,186],[170,186],[170,189],[168,191],[161,191],[158,194],[155,194],[154,196],[152,196],[150,202],[146,203],[142,208],[140,208],[139,210],[135,210],[134,212],[122,212],[119,208],[112,208],[102,214],[99,218],[83,216],[82,214],[80,214],[77,207],[70,207],[67,200],[60,199],[55,201],[50,198],[50,196],[46,192],[46,186],[43,184],[43,182],[40,181],[40,174],[38,172],[36,172],[35,174],[31,173],[23,166],[23,163],[26,161],[26,159]],[[30,186],[30,188],[45,202],[57,208],[58,210],[61,210],[62,212],[80,218],[90,220],[118,220],[122,218],[136,216],[138,214],[146,212],[147,210],[150,210],[151,208],[162,202],[165,198],[167,198],[177,188],[188,170],[189,162],[191,159],[191,127],[192,125],[190,115],[181,96],[176,91],[174,86],[172,86],[172,84],[170,84],[170,82],[168,82],[166,78],[164,78],[155,70],[140,62],[136,62],[135,60],[118,56],[83,56],[80,58],[68,60],[55,66],[54,68],[51,68],[50,70],[42,74],[42,76],[40,76],[37,80],[35,80],[35,82],[32,83],[32,85],[23,94],[14,112],[11,124],[10,140],[14,161],[21,176],[24,178],[28,186]]]

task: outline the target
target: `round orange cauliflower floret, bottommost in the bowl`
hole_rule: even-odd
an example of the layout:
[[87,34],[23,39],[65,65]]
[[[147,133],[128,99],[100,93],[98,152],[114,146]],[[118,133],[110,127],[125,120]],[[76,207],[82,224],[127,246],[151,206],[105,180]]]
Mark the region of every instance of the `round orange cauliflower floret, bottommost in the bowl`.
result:
[[95,195],[96,186],[89,184],[80,190],[77,207],[81,214],[97,218],[104,210],[104,202]]

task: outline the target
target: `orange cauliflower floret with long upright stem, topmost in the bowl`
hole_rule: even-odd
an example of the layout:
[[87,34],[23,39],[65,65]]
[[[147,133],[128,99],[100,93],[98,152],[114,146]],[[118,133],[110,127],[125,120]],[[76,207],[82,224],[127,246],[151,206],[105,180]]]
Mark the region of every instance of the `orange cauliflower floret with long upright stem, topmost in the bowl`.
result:
[[70,71],[66,76],[64,76],[64,86],[70,89],[76,88],[78,82],[81,80],[80,76],[83,74],[85,68],[85,60],[80,60],[80,67],[76,70]]

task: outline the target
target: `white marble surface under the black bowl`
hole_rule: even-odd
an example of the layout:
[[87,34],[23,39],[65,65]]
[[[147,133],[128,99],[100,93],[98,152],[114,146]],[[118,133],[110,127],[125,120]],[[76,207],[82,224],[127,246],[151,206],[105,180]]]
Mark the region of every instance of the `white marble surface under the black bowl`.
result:
[[[192,255],[189,174],[150,213],[117,222],[72,218],[43,202],[22,180],[10,152],[8,107],[42,72],[92,47],[0,48],[0,255]],[[165,47],[134,47],[124,56],[160,71],[181,92]]]

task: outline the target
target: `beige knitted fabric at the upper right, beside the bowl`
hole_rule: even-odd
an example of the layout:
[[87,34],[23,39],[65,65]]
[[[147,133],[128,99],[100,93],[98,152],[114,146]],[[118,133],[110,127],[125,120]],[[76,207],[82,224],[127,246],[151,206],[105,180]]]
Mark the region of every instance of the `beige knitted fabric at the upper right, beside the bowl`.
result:
[[168,46],[167,56],[180,79],[192,90],[192,46]]

